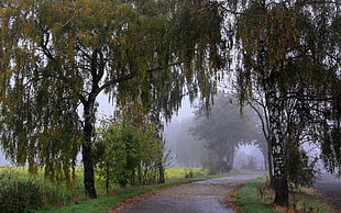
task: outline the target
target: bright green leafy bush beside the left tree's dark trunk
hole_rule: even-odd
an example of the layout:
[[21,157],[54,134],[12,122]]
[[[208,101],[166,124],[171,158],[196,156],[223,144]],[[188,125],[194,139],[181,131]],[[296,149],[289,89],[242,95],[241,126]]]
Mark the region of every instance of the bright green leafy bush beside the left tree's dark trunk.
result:
[[97,162],[106,183],[124,188],[156,183],[163,165],[163,142],[154,125],[106,123],[97,143]]

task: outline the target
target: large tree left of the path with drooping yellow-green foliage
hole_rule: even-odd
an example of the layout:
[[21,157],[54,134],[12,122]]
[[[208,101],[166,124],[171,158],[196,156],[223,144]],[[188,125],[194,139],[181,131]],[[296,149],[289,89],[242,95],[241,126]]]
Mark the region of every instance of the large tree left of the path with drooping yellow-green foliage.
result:
[[91,199],[98,96],[169,116],[186,85],[207,94],[222,65],[221,18],[206,1],[8,0],[0,10],[6,156],[73,182],[81,152]]

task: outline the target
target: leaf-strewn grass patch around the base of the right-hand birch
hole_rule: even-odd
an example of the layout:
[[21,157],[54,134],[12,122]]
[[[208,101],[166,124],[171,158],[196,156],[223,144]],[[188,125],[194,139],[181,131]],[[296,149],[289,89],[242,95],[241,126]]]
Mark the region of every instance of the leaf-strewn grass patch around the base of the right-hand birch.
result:
[[284,209],[273,205],[275,193],[272,189],[265,188],[261,198],[260,186],[266,180],[266,176],[258,177],[244,183],[238,194],[234,204],[241,213],[271,213],[271,212],[319,212],[331,213],[330,206],[323,202],[312,188],[298,188],[289,193],[289,208]]

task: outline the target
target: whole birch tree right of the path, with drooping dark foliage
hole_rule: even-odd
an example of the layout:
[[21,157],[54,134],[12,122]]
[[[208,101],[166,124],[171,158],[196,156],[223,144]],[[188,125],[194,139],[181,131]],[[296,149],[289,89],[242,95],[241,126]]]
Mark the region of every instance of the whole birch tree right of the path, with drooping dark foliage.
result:
[[256,0],[223,7],[234,21],[240,100],[263,107],[275,204],[287,206],[290,148],[315,143],[327,168],[340,171],[340,3]]

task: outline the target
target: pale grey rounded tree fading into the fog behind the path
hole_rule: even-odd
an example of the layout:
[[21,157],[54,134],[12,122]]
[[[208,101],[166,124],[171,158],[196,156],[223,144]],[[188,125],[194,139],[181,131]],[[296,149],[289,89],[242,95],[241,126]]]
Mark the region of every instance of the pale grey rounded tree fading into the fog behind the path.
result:
[[[258,145],[256,120],[252,111],[240,113],[240,108],[231,94],[218,92],[213,105],[207,111],[201,102],[196,111],[191,134],[206,142],[211,152],[207,162],[212,172],[227,172],[232,169],[234,154],[242,143],[255,141]],[[241,131],[243,130],[243,131]]]

